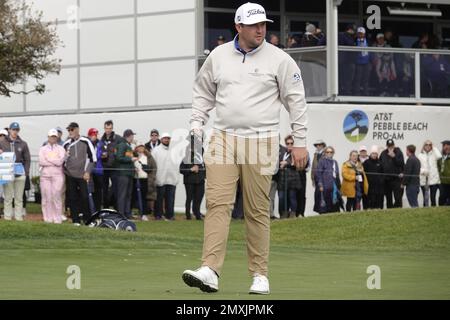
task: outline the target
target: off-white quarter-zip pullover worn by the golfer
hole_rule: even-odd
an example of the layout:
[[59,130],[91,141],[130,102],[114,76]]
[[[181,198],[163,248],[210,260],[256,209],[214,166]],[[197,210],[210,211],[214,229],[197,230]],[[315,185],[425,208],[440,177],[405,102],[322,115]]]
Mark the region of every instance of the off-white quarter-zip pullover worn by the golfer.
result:
[[283,105],[289,112],[294,146],[306,147],[307,106],[297,63],[265,41],[244,54],[236,39],[215,48],[200,69],[191,128],[205,125],[208,113],[216,108],[216,130],[250,138],[278,136]]

